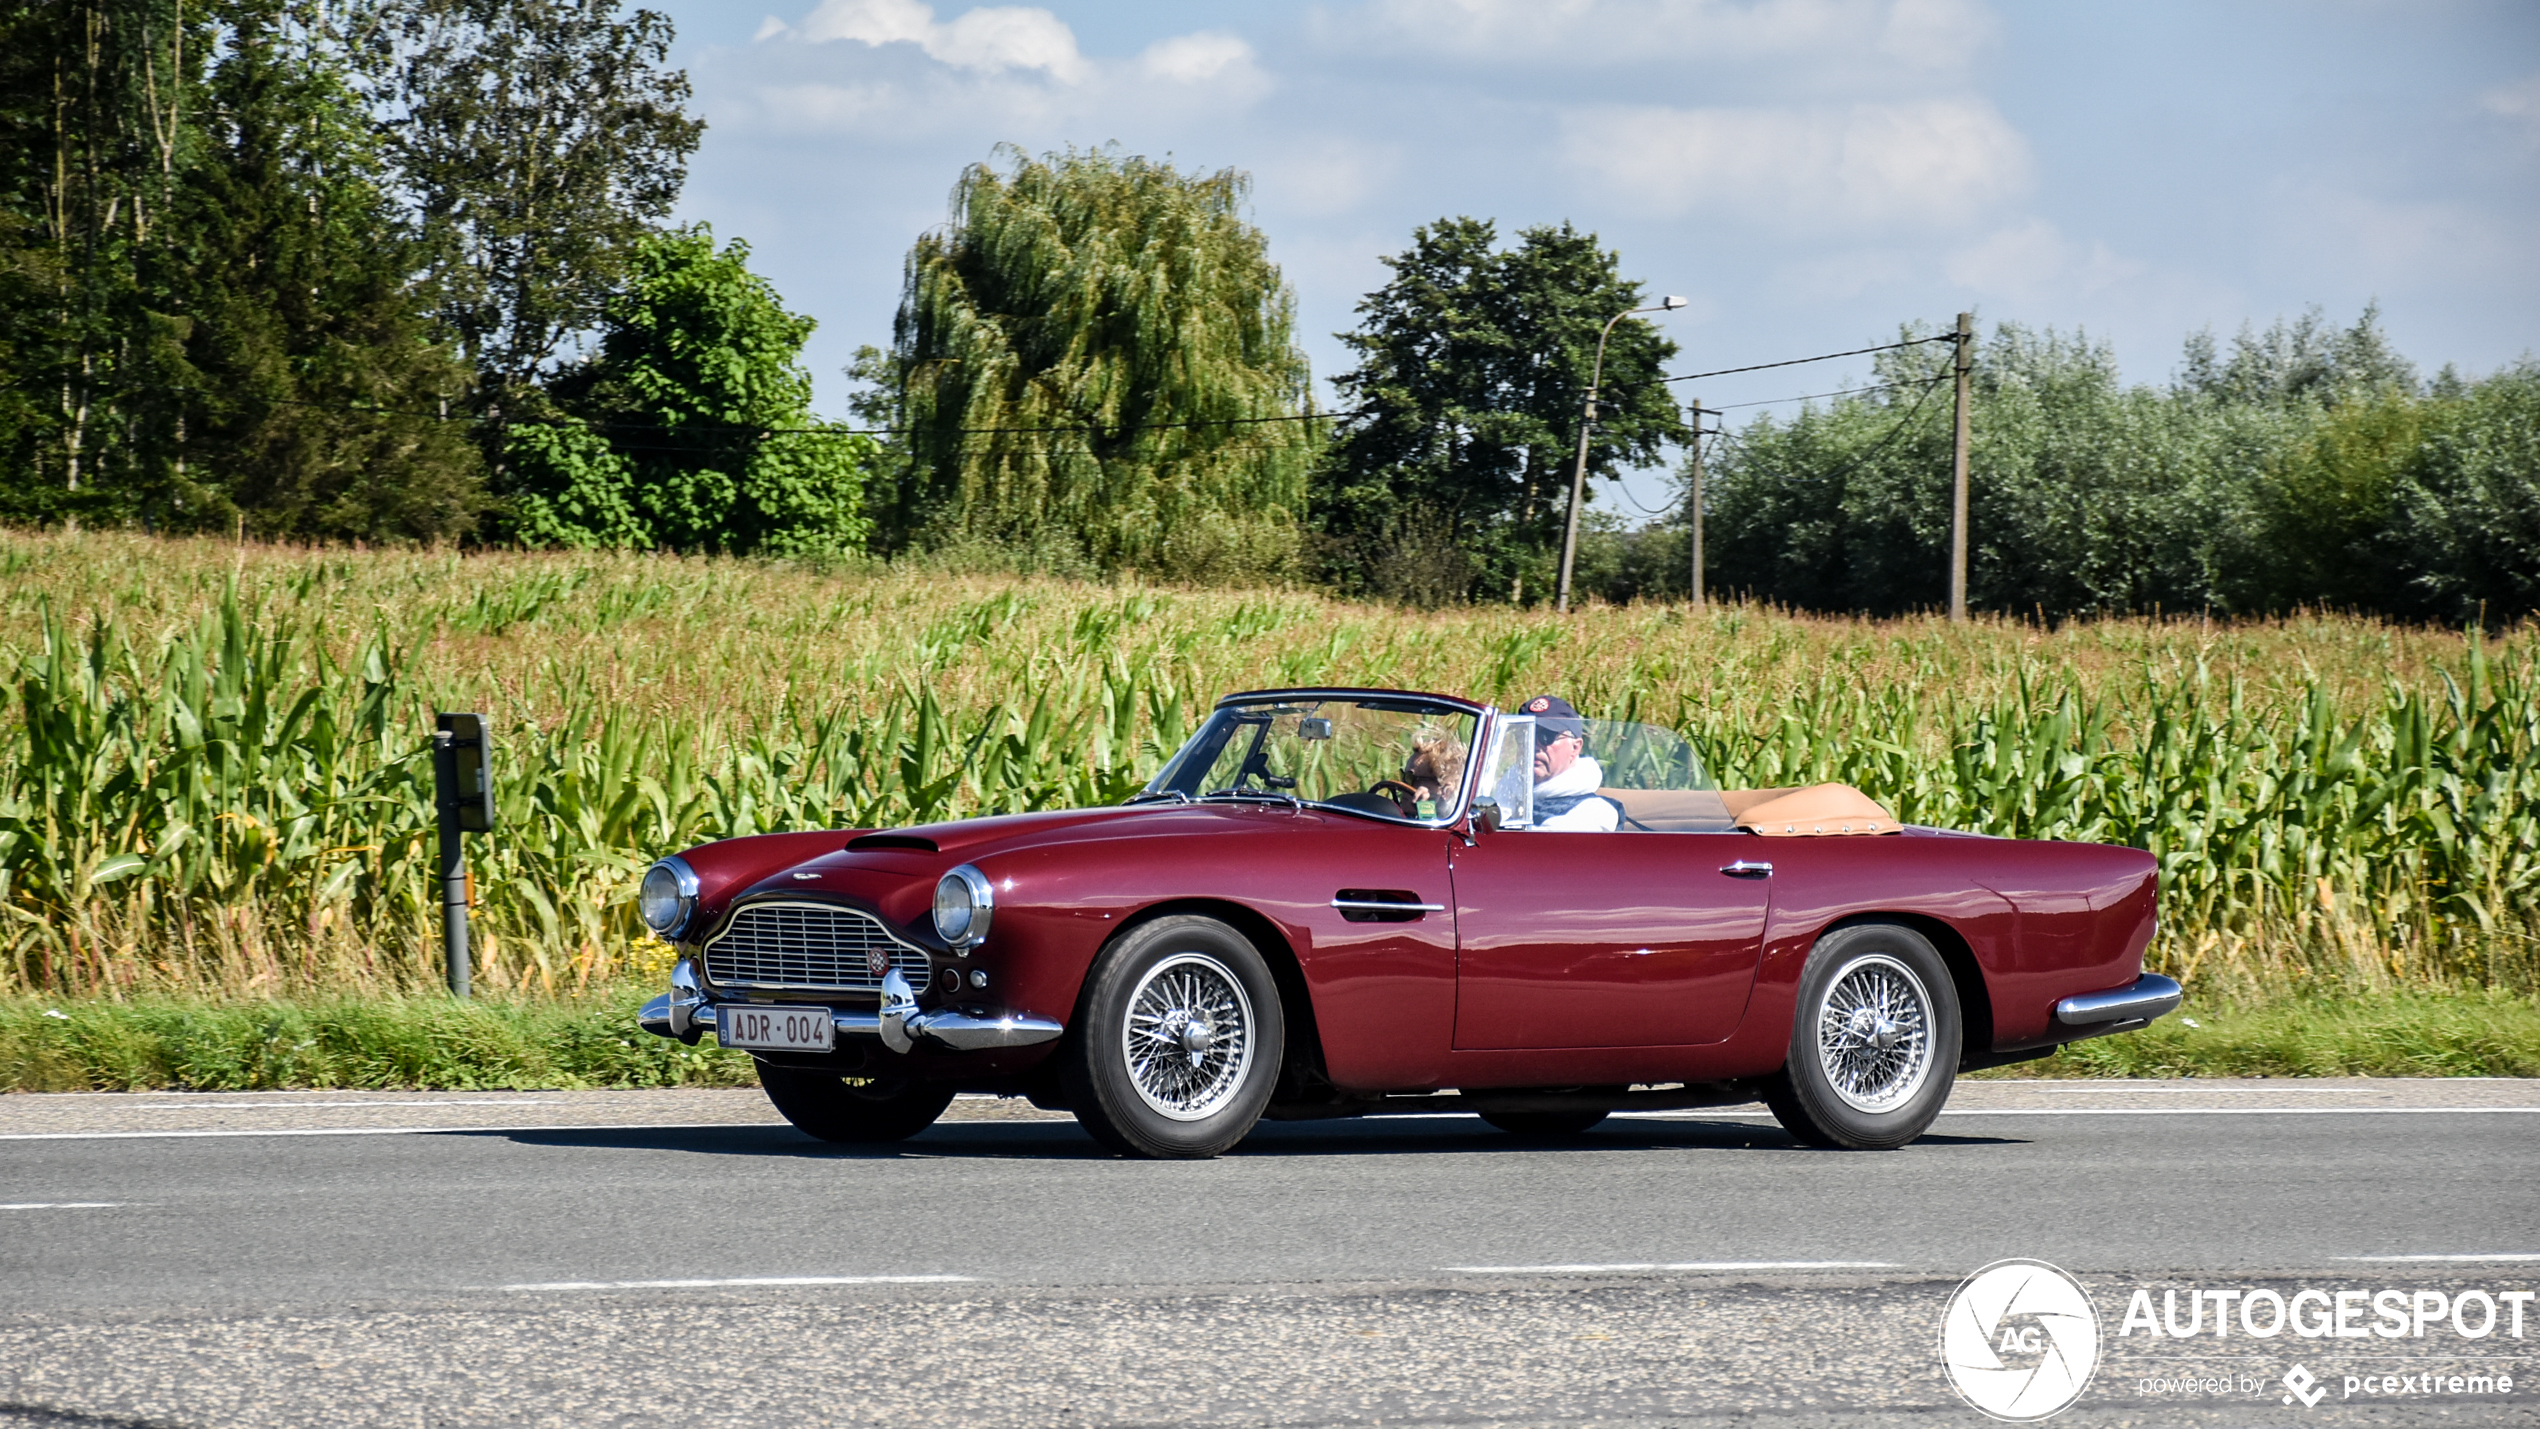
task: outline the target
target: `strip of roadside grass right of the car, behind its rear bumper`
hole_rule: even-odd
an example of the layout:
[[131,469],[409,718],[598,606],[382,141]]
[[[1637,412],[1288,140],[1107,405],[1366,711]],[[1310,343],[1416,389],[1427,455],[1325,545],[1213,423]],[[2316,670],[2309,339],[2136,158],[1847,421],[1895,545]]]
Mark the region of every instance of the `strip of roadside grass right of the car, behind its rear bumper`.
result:
[[2540,1000],[2405,990],[2200,1008],[2189,995],[2139,1033],[1976,1076],[2540,1076]]

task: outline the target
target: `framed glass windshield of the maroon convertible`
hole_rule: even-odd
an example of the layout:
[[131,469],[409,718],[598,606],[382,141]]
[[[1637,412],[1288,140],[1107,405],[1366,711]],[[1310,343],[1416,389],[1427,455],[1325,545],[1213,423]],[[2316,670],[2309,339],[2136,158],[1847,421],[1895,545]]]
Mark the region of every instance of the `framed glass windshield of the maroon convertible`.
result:
[[1219,706],[1138,797],[1298,800],[1445,820],[1463,802],[1476,723],[1412,698]]

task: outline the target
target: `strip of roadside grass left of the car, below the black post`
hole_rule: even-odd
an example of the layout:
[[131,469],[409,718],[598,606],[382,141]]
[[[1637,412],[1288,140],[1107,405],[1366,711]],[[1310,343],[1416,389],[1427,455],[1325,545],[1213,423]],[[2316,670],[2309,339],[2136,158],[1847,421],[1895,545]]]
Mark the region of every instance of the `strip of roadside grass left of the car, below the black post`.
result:
[[640,998],[579,1003],[0,1000],[0,1091],[757,1086],[749,1056],[635,1028]]

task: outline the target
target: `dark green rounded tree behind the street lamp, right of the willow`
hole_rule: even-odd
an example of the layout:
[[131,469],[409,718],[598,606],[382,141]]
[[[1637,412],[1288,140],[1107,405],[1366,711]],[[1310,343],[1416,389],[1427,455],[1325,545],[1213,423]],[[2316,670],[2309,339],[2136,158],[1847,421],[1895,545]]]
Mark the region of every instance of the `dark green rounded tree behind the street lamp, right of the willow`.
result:
[[[1331,444],[1313,513],[1344,589],[1407,599],[1549,594],[1598,333],[1643,307],[1621,259],[1577,228],[1524,228],[1499,249],[1483,218],[1440,218],[1384,259],[1392,282],[1341,340],[1359,365],[1341,398],[1367,411]],[[1648,464],[1687,434],[1656,327],[1628,317],[1605,345],[1588,472]]]

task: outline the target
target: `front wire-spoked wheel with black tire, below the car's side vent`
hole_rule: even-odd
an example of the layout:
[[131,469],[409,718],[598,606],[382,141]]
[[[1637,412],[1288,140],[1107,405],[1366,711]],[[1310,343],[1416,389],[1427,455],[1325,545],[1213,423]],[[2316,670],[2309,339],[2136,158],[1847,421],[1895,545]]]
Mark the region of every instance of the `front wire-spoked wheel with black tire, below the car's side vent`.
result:
[[1085,980],[1062,1051],[1067,1104],[1120,1155],[1212,1157],[1260,1122],[1285,1043],[1278,980],[1252,939],[1217,919],[1156,919]]

